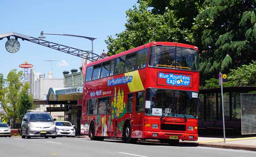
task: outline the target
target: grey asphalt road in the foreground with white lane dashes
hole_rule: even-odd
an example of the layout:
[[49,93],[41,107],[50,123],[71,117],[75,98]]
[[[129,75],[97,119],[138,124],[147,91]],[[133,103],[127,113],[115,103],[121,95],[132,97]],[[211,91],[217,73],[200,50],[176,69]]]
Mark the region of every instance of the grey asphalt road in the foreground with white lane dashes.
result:
[[0,137],[0,157],[255,157],[254,151],[86,138]]

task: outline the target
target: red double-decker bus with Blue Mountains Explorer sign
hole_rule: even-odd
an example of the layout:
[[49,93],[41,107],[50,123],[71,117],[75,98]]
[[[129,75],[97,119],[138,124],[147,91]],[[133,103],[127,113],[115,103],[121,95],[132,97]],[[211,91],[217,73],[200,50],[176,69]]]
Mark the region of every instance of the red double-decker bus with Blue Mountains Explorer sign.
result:
[[198,48],[152,42],[86,66],[81,133],[126,143],[198,139]]

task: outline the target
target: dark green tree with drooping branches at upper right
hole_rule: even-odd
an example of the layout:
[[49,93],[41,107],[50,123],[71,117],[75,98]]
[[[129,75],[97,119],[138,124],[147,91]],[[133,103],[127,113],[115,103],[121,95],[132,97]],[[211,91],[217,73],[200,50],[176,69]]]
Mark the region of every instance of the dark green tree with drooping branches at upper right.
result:
[[205,0],[192,28],[201,39],[200,72],[206,78],[219,69],[240,67],[255,60],[255,0]]

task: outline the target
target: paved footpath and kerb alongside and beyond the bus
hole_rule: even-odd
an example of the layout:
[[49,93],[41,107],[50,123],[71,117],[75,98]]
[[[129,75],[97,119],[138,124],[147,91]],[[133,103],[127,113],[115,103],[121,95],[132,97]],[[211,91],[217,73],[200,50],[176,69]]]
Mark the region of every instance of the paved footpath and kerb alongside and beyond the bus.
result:
[[[89,138],[88,136],[76,136],[78,138]],[[120,138],[105,138],[106,140],[121,140]],[[159,143],[158,140],[138,140],[138,142]],[[180,141],[179,145],[191,147],[212,147],[223,149],[237,149],[256,151],[256,135],[250,136],[227,136],[224,143],[222,136],[201,135],[198,141]]]

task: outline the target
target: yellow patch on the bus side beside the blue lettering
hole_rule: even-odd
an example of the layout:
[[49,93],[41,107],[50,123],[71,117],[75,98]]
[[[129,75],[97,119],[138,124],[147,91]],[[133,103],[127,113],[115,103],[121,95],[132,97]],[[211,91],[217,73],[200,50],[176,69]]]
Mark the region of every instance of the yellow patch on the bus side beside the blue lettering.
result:
[[140,74],[138,73],[138,70],[126,72],[125,76],[133,76],[132,81],[127,84],[130,92],[144,90],[144,86],[142,84],[141,77],[140,77]]

